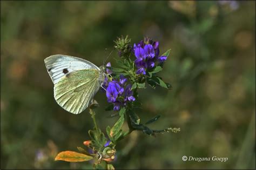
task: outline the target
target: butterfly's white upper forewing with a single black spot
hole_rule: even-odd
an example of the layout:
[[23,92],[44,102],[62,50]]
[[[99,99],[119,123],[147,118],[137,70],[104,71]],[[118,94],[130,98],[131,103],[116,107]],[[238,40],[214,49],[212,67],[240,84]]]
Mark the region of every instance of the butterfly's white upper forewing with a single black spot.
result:
[[99,67],[85,59],[65,55],[47,57],[44,59],[44,63],[53,84],[58,83],[60,78],[74,71],[84,69],[96,69],[100,71]]

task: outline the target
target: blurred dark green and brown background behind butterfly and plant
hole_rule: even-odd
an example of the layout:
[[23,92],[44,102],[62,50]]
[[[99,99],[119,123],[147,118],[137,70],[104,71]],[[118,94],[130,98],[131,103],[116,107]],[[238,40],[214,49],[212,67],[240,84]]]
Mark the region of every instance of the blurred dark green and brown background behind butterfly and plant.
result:
[[[117,36],[143,36],[172,49],[160,76],[173,90],[140,90],[142,122],[180,127],[150,137],[132,132],[117,146],[116,168],[255,167],[255,2],[2,2],[1,168],[91,168],[53,161],[77,151],[93,127],[89,112],[73,115],[53,98],[44,58],[77,56],[100,66]],[[106,50],[105,50],[106,49]],[[114,52],[109,61],[115,66]],[[116,65],[117,66],[117,65]],[[98,92],[105,130],[118,119]],[[124,127],[124,129],[127,127]],[[227,157],[226,162],[183,161]]]

